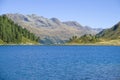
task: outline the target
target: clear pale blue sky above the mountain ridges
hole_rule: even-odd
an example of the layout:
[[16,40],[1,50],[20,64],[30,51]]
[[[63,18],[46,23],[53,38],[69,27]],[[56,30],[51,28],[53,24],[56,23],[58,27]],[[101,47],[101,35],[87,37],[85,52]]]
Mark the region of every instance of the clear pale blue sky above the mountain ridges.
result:
[[0,0],[0,14],[5,13],[37,14],[109,28],[120,21],[120,0]]

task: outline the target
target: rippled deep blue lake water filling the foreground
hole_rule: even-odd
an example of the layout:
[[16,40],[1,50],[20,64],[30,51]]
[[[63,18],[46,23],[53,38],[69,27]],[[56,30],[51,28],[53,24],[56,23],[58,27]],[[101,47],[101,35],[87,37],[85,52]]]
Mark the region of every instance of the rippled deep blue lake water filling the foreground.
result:
[[120,80],[120,47],[0,46],[0,80]]

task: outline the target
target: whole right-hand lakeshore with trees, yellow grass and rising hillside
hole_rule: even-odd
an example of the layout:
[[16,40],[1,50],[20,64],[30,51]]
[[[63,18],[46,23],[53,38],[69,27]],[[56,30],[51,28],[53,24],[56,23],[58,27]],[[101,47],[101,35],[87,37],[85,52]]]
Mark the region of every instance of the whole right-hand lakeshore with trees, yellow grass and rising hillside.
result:
[[86,34],[81,37],[73,36],[68,41],[70,44],[101,44],[120,45],[120,22],[112,28],[104,29],[97,35]]

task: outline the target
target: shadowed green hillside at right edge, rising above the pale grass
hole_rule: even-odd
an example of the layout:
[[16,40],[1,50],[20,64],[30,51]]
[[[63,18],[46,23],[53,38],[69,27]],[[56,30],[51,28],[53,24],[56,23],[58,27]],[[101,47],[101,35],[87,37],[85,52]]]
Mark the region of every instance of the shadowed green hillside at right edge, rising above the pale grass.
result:
[[97,34],[100,38],[105,39],[118,39],[120,38],[120,22],[114,25],[112,28],[105,29]]

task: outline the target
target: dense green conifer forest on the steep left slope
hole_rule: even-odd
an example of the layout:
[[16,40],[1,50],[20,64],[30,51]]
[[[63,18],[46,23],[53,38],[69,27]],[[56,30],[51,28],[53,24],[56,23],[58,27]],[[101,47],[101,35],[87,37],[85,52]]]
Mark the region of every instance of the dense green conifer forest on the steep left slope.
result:
[[21,44],[24,40],[39,42],[38,37],[27,29],[15,24],[6,15],[0,16],[0,42],[2,44]]

